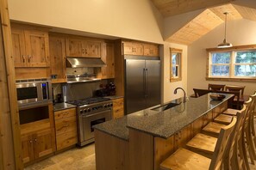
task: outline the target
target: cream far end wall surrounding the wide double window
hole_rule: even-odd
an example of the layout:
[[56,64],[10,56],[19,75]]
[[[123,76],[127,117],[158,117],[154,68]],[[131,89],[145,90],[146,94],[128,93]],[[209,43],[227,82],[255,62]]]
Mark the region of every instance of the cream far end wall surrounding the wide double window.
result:
[[[227,41],[233,46],[256,44],[256,21],[246,19],[228,21]],[[188,46],[188,92],[193,94],[193,88],[208,88],[208,83],[245,85],[245,94],[253,94],[256,82],[217,82],[206,81],[206,48],[216,47],[223,41],[224,24]]]

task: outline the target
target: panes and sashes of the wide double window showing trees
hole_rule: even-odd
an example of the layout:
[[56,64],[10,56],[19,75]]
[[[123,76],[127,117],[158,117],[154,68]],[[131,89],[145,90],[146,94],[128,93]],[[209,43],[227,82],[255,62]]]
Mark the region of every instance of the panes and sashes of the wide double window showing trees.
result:
[[256,77],[256,51],[212,52],[209,76]]

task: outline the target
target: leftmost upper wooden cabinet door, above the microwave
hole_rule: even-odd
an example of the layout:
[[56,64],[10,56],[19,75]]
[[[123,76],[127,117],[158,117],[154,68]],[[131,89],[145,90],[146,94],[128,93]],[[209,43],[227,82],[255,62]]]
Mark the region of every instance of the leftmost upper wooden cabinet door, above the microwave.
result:
[[25,48],[24,32],[22,29],[12,27],[11,36],[15,67],[26,67],[27,54]]

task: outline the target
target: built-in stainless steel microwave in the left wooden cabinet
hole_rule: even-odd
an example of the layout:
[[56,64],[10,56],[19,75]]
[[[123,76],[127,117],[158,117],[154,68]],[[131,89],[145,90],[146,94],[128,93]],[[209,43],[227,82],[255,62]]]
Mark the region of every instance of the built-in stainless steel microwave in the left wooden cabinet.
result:
[[16,80],[19,108],[41,106],[52,101],[52,83],[48,79]]

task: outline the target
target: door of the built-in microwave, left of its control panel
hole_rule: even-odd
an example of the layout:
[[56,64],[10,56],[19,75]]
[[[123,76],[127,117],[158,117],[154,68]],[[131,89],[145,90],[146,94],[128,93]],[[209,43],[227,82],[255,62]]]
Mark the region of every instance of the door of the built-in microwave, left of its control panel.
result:
[[27,104],[31,102],[41,101],[42,91],[41,83],[29,82],[16,84],[18,104]]

